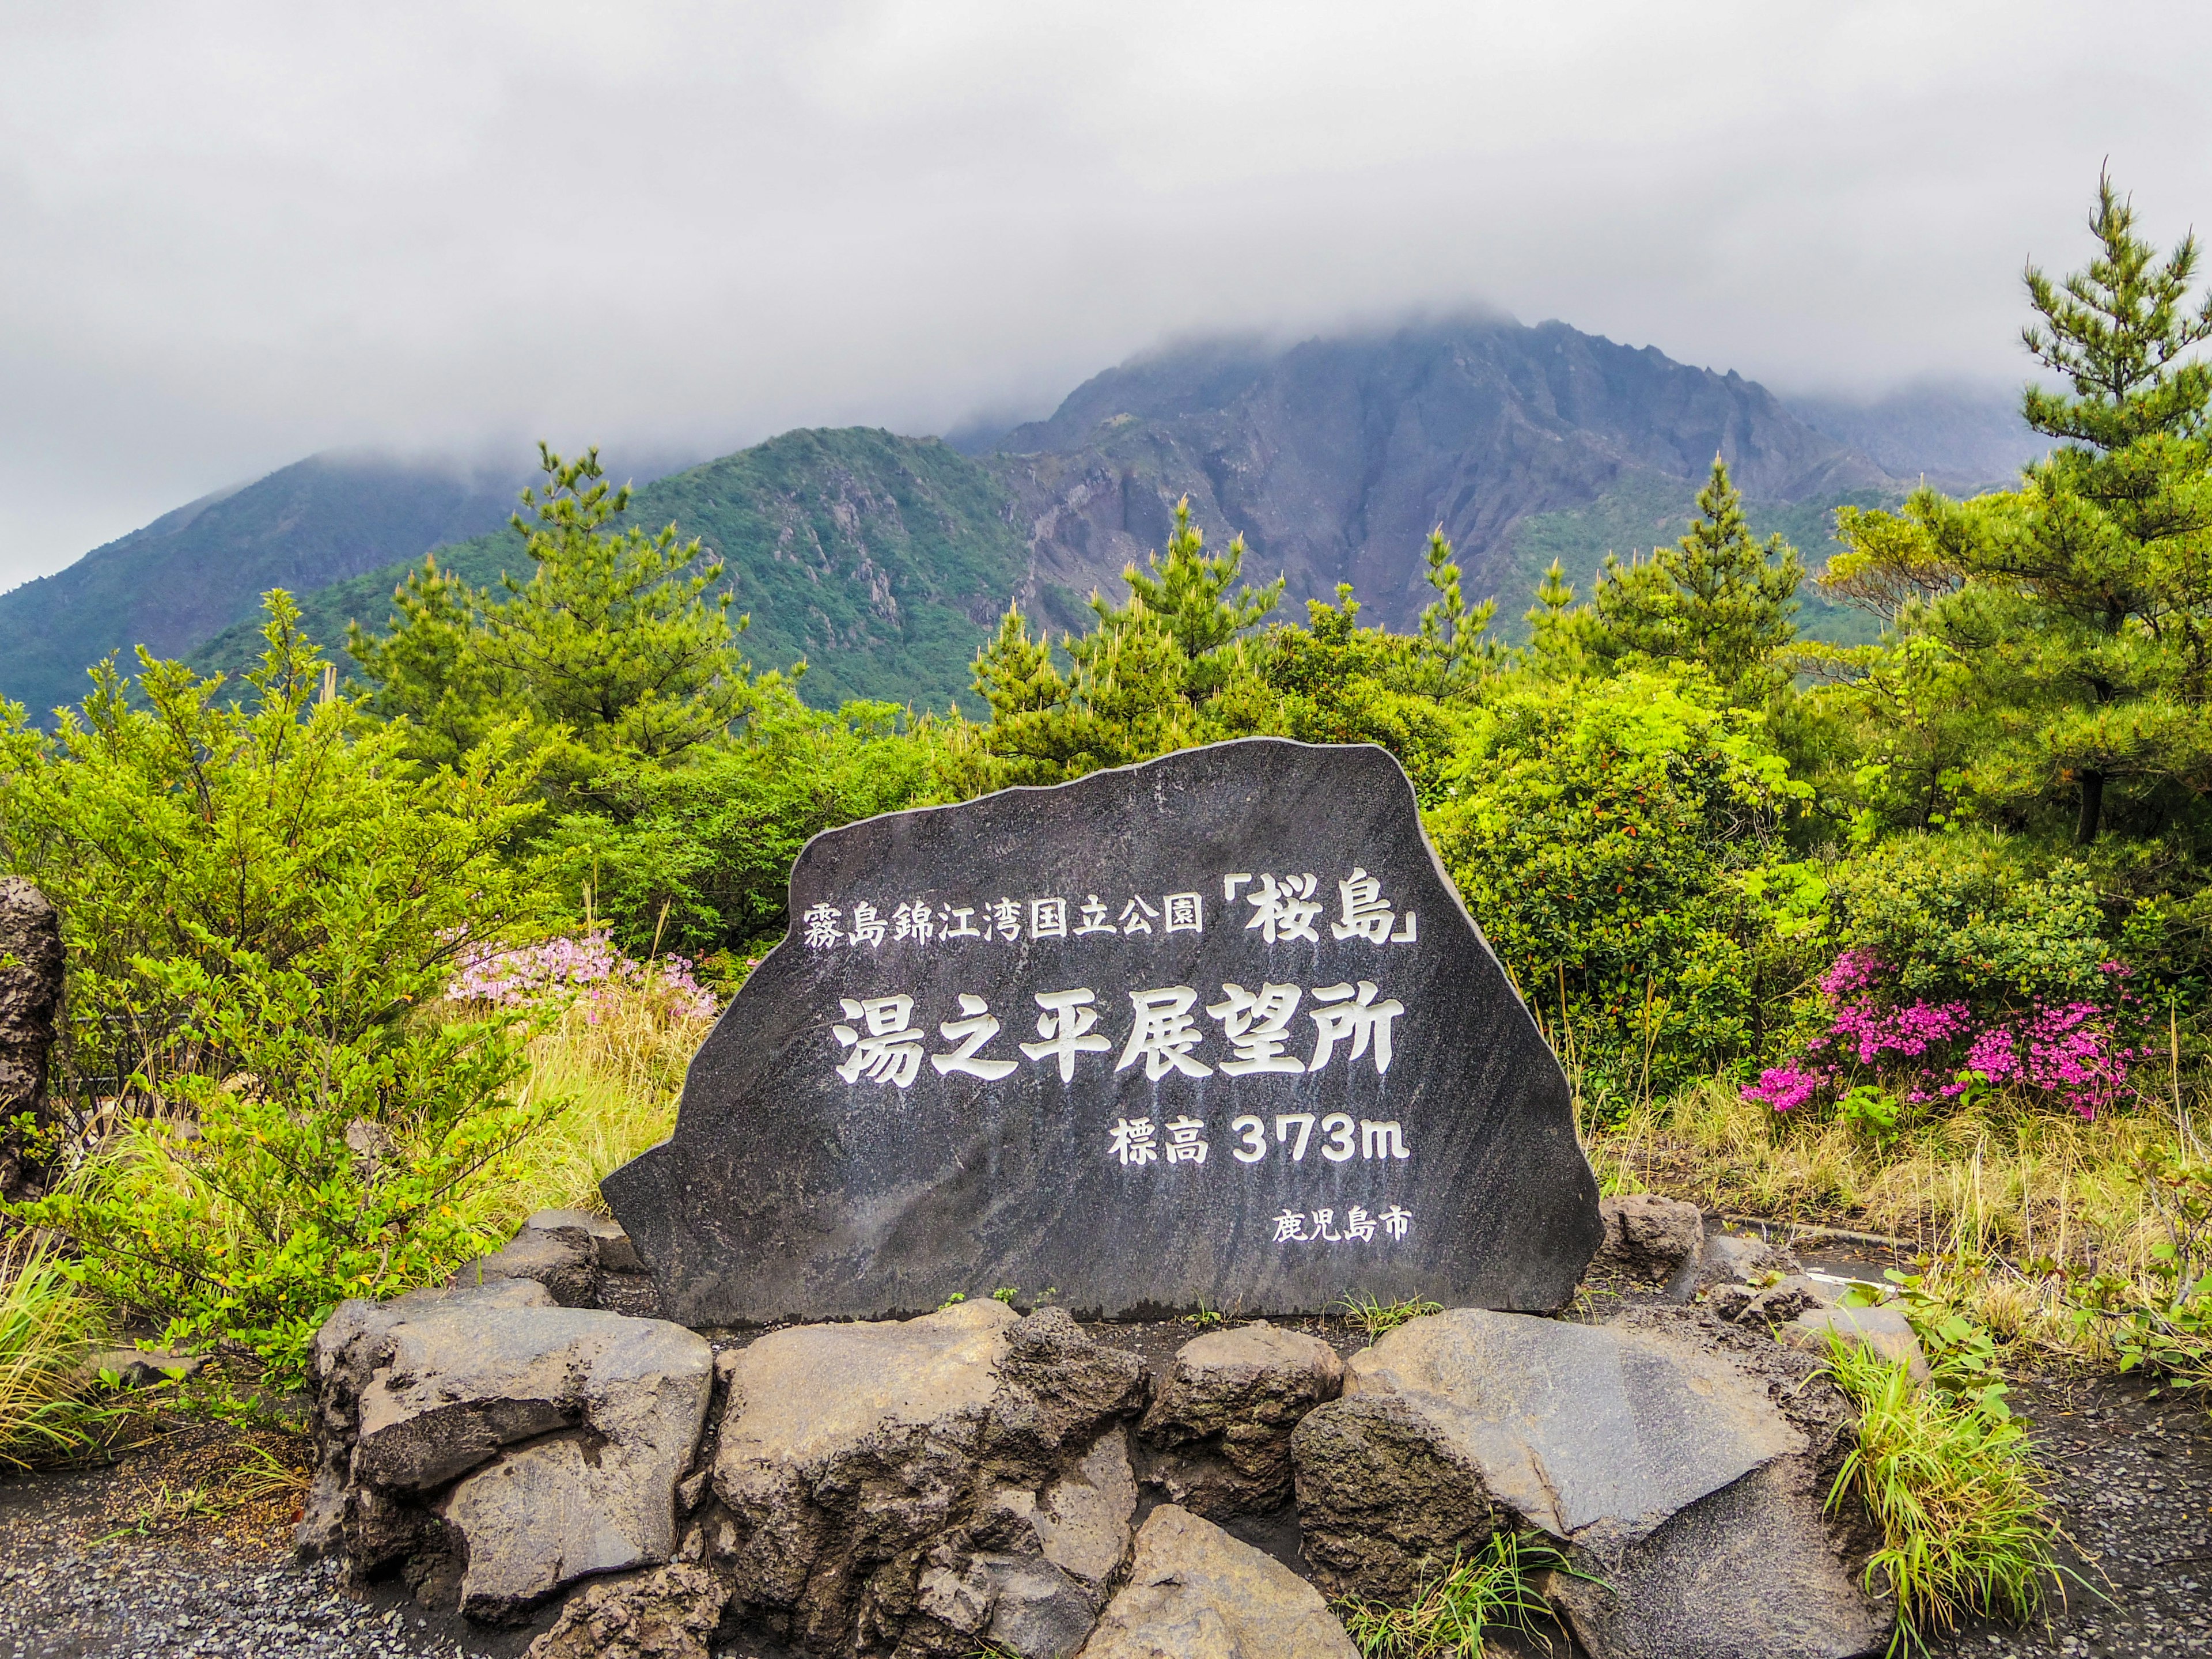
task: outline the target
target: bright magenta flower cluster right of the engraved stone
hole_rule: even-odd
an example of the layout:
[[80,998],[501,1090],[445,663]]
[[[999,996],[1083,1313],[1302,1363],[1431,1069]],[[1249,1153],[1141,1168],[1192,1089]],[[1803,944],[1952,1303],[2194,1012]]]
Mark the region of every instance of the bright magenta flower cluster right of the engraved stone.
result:
[[2132,1002],[2128,969],[2104,962],[2099,971],[2104,1000],[1975,1013],[1964,1002],[1905,1002],[1887,964],[1869,951],[1845,951],[1820,975],[1834,1006],[1829,1029],[1805,1053],[1759,1073],[1743,1097],[1790,1113],[1834,1099],[1856,1082],[1876,1082],[1927,1106],[1955,1099],[1980,1077],[2095,1117],[2119,1099],[2139,1057],[2121,1035]]

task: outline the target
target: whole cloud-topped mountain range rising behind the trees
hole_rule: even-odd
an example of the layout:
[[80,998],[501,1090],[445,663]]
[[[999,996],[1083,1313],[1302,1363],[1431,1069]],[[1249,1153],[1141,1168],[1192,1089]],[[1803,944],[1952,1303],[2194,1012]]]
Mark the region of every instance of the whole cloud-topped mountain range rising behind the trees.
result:
[[[1179,345],[1093,376],[1044,420],[958,445],[792,431],[648,478],[630,515],[675,522],[726,562],[752,615],[748,657],[803,657],[810,701],[973,706],[969,659],[1006,602],[1084,626],[1084,595],[1121,591],[1183,493],[1212,546],[1243,533],[1252,580],[1287,577],[1292,617],[1352,582],[1367,619],[1411,626],[1431,597],[1422,546],[1442,524],[1467,593],[1495,595],[1513,639],[1553,560],[1588,593],[1608,551],[1637,557],[1681,535],[1714,453],[1754,529],[1790,535],[1818,568],[1838,502],[1896,502],[1931,460],[1975,471],[2002,449],[1995,416],[1960,398],[1785,405],[1657,347],[1484,314]],[[518,482],[314,456],[192,502],[0,595],[0,695],[77,697],[88,661],[135,641],[234,670],[276,584],[336,650],[347,622],[385,624],[392,588],[431,549],[478,584],[526,575],[500,529]],[[1814,595],[1801,622],[1834,639],[1871,630]]]

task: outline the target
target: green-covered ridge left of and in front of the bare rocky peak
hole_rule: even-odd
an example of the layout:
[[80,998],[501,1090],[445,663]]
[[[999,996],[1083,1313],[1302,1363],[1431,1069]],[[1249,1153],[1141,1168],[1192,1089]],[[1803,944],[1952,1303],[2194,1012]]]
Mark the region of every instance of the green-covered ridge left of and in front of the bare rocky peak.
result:
[[[648,531],[675,522],[721,557],[734,611],[752,617],[745,655],[759,668],[803,657],[801,690],[818,706],[876,697],[945,708],[967,697],[967,666],[1026,568],[1011,502],[982,467],[936,438],[865,427],[787,431],[657,478],[626,520]],[[338,648],[347,622],[385,626],[392,588],[418,564],[310,593],[310,635]],[[476,586],[529,577],[511,529],[442,546],[438,564]],[[257,650],[254,626],[221,633],[195,666],[237,670]]]

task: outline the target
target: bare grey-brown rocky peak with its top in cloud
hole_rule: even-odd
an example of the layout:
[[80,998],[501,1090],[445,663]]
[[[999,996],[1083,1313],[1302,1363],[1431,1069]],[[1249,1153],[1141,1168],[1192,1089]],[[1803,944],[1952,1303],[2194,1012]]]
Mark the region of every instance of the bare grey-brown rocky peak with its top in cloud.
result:
[[1752,500],[1889,484],[1739,374],[1504,316],[1161,352],[998,447],[987,465],[1015,500],[1046,615],[1053,588],[1110,591],[1161,546],[1183,493],[1208,538],[1243,533],[1248,573],[1285,573],[1292,602],[1352,582],[1369,622],[1407,628],[1433,597],[1420,560],[1433,524],[1482,595],[1520,518],[1635,480],[1694,487],[1717,453]]

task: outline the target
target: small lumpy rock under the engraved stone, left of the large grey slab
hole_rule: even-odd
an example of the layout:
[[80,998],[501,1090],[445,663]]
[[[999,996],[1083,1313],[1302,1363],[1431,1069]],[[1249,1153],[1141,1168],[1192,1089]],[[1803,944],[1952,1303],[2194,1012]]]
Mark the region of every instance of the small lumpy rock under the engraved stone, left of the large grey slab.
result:
[[1265,1321],[1197,1336],[1139,1427],[1161,1453],[1152,1478],[1208,1520],[1279,1509],[1292,1486],[1290,1431],[1343,1383],[1345,1363],[1318,1336]]

